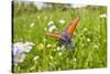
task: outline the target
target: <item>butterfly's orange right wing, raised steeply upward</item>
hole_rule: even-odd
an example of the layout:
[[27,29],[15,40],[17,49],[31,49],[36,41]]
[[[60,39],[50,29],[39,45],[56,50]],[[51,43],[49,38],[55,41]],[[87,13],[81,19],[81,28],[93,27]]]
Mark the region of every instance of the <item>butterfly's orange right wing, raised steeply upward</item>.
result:
[[78,23],[79,18],[75,18],[75,20],[65,29],[65,31],[72,36],[75,28]]

